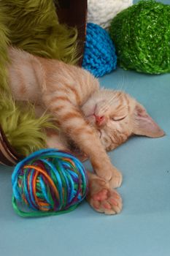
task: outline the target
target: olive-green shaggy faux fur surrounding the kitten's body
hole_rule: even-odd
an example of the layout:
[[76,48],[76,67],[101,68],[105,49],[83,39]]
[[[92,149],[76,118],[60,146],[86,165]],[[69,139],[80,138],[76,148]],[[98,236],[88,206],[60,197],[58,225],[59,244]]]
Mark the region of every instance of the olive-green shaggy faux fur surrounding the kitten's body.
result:
[[77,62],[77,29],[58,22],[53,0],[0,1],[0,124],[9,143],[20,154],[30,154],[45,146],[49,116],[36,119],[34,107],[26,111],[14,102],[9,91],[8,45],[45,58]]

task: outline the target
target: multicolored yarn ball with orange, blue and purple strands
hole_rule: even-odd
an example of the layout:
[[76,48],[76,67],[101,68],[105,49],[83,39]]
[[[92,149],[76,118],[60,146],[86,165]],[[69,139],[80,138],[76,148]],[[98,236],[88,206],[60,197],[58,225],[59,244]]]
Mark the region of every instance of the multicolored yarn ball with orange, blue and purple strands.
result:
[[87,184],[85,168],[72,154],[36,151],[12,173],[12,205],[22,217],[67,213],[85,198]]

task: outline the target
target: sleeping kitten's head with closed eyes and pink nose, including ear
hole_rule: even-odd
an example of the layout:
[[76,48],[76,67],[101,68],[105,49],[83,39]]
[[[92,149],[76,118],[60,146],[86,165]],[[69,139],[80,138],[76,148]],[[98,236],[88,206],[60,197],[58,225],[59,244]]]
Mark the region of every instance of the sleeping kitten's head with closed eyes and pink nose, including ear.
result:
[[139,102],[122,91],[101,89],[93,94],[82,112],[107,151],[119,146],[131,135],[158,138],[163,130]]

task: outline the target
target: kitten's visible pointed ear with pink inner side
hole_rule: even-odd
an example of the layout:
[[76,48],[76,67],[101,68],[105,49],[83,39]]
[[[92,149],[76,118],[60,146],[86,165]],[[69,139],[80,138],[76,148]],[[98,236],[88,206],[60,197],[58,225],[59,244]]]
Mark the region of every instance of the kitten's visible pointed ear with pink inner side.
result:
[[150,138],[158,138],[165,135],[163,129],[148,115],[147,111],[139,103],[134,109],[134,134],[144,135]]

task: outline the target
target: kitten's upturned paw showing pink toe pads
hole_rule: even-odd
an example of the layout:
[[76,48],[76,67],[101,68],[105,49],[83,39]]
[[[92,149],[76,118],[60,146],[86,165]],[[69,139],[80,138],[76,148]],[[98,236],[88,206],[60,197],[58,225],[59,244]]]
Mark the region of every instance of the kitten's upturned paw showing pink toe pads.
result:
[[87,200],[94,210],[104,214],[119,214],[122,209],[122,199],[117,191],[97,178],[90,181]]

